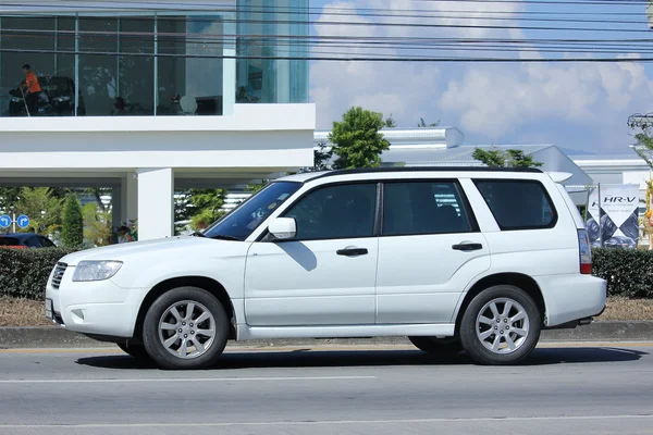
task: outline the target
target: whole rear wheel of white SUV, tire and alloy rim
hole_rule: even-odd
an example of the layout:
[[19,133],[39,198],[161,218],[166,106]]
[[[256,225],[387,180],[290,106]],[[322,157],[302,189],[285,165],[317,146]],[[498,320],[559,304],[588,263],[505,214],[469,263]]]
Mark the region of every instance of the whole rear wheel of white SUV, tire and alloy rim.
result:
[[471,300],[460,323],[460,340],[477,363],[516,364],[535,348],[541,330],[534,300],[518,287],[498,285]]

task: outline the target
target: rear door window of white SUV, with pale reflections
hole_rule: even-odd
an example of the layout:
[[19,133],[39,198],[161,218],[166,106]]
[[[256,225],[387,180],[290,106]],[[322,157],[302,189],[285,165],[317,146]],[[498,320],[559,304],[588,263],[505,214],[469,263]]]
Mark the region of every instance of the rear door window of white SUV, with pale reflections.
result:
[[387,183],[383,235],[470,233],[465,203],[453,182]]

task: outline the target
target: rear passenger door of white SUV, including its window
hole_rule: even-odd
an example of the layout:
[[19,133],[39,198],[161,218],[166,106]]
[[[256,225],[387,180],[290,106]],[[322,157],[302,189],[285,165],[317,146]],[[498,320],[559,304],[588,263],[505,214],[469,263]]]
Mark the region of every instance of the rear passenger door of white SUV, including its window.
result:
[[378,324],[449,323],[460,294],[489,268],[457,181],[384,183]]

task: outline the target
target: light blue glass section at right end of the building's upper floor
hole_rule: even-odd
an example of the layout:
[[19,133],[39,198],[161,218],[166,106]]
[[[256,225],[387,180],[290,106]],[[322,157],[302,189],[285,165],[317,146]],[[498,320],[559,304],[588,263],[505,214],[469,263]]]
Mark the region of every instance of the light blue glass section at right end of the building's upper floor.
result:
[[308,0],[238,2],[236,102],[308,102]]

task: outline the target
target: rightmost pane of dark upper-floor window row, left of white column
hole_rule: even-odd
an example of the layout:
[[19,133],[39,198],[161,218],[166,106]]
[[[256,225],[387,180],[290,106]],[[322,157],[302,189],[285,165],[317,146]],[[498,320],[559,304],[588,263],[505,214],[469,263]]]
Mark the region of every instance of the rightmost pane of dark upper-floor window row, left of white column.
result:
[[159,115],[222,115],[220,16],[158,17]]

